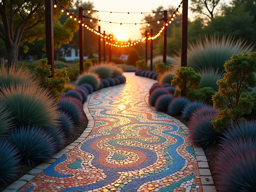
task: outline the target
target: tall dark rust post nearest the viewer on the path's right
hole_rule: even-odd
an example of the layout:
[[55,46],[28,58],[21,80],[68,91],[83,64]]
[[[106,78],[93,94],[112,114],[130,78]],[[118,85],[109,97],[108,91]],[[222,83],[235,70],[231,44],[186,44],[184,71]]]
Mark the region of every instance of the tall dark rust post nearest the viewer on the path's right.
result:
[[188,47],[188,0],[182,0],[182,25],[181,25],[181,66],[187,67]]

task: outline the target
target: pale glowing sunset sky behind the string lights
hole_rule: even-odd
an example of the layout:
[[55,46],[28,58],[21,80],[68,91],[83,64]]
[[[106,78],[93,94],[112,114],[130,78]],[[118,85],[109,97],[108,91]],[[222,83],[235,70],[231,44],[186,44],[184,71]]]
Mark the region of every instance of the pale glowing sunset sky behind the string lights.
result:
[[[83,0],[84,1],[84,0]],[[168,8],[169,5],[173,5],[178,7],[181,0],[91,0],[94,5],[95,10],[99,11],[108,11],[108,13],[99,12],[99,19],[105,20],[108,22],[117,22],[119,24],[112,24],[110,26],[109,23],[100,22],[101,33],[105,30],[106,34],[113,34],[118,39],[128,40],[136,40],[141,38],[140,28],[141,24],[137,24],[134,27],[134,24],[125,25],[122,24],[120,27],[120,23],[142,23],[141,12],[151,12],[152,9],[156,9],[158,6],[162,5],[165,8]],[[188,2],[188,6],[190,6],[190,1]],[[110,12],[126,12],[126,13],[112,13]],[[128,12],[140,12],[139,14],[129,14]],[[195,14],[192,14],[190,10],[188,10],[188,17],[190,20],[193,20]],[[143,24],[145,25],[145,24]],[[160,24],[159,24],[160,28]]]

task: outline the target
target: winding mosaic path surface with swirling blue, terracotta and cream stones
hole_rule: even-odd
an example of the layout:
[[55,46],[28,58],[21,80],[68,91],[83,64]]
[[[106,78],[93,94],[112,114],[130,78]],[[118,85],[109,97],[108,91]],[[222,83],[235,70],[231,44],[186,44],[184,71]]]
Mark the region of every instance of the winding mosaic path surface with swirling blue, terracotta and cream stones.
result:
[[21,191],[202,191],[188,136],[145,103],[156,81],[125,76],[91,96],[91,134]]

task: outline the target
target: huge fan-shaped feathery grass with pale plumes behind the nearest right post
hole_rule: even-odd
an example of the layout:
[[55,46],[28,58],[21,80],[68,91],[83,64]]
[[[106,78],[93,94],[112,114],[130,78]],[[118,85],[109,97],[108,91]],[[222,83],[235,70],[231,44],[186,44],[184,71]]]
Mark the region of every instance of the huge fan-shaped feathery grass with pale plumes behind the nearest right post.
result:
[[[202,69],[224,70],[224,63],[228,61],[233,54],[251,52],[255,44],[247,45],[245,40],[235,40],[232,36],[224,35],[221,39],[216,35],[205,36],[197,39],[196,43],[188,44],[187,66],[192,67],[199,72]],[[181,52],[174,56],[174,63],[180,65]]]

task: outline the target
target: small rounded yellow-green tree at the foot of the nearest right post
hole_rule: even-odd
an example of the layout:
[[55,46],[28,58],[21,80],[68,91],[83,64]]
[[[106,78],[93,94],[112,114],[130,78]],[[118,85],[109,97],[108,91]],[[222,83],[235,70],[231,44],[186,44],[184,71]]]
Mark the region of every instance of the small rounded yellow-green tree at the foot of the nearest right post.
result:
[[191,67],[181,67],[177,69],[176,76],[171,81],[172,86],[178,86],[174,96],[187,96],[187,91],[196,90],[200,85],[202,76]]

